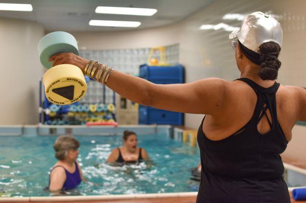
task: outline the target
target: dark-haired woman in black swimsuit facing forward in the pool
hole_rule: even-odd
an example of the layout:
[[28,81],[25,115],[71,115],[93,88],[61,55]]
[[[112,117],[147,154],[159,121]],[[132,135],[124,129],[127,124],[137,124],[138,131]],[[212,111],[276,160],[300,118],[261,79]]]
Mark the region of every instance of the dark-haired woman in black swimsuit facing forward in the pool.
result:
[[112,151],[107,162],[135,164],[149,160],[145,149],[138,147],[137,135],[135,132],[125,130],[123,132],[123,146]]

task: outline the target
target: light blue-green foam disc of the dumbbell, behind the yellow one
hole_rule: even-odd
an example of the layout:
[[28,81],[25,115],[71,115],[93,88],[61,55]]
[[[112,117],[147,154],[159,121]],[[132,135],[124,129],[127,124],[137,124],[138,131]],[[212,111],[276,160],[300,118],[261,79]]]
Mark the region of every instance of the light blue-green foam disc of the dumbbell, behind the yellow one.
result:
[[75,38],[66,32],[53,32],[45,35],[38,43],[40,63],[47,69],[52,68],[49,58],[57,53],[72,52],[79,55],[78,43]]

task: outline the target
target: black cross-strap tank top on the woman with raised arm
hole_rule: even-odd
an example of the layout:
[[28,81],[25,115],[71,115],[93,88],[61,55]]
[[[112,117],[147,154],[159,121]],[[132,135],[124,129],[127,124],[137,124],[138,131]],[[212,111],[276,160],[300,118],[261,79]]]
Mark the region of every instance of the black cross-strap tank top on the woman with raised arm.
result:
[[[246,82],[257,95],[254,113],[244,127],[219,141],[203,133],[203,119],[197,134],[202,165],[197,202],[288,203],[290,196],[279,156],[288,143],[277,121],[275,94],[279,83],[263,88],[248,78],[238,80]],[[271,129],[260,134],[257,124],[267,116],[267,109],[271,112]]]

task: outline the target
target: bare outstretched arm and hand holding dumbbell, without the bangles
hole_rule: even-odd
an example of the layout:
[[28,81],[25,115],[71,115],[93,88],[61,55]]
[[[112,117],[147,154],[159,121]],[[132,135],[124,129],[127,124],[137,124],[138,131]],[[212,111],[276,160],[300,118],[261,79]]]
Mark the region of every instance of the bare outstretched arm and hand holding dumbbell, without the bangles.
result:
[[[88,60],[73,53],[52,56],[53,65],[72,64],[84,72]],[[121,96],[142,105],[164,110],[216,114],[225,103],[228,82],[207,78],[185,84],[154,84],[145,79],[114,71],[107,86]]]

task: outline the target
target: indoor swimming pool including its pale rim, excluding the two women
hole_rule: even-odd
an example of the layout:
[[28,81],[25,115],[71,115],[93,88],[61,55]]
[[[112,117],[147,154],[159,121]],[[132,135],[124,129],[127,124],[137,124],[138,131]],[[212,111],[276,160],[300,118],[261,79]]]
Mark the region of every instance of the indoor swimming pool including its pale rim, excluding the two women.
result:
[[[110,151],[121,145],[124,130],[139,134],[139,146],[148,151],[153,163],[125,167],[105,163]],[[81,141],[79,162],[82,170],[88,180],[98,185],[82,183],[79,188],[69,191],[68,196],[50,197],[43,188],[48,185],[50,167],[57,161],[52,147],[57,137],[54,135],[65,133],[72,133]],[[196,196],[198,182],[190,180],[190,168],[197,165],[199,151],[197,147],[190,147],[191,142],[183,143],[183,137],[180,129],[156,125],[0,126],[0,201]],[[306,170],[284,165],[284,178],[291,187],[289,191],[293,186],[306,186]]]

